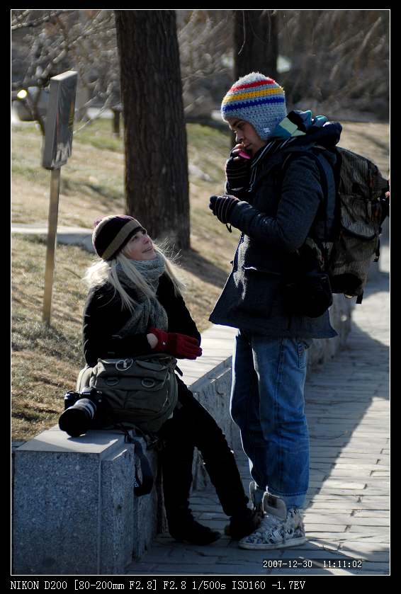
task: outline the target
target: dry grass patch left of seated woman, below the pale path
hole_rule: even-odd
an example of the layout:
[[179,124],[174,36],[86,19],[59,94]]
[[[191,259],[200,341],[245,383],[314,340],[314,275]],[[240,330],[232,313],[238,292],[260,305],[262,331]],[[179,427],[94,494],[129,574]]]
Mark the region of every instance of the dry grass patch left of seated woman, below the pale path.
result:
[[84,287],[77,278],[91,255],[75,246],[57,247],[52,326],[42,322],[46,246],[14,236],[12,433],[27,439],[57,422],[63,395],[74,388],[81,353],[81,308]]

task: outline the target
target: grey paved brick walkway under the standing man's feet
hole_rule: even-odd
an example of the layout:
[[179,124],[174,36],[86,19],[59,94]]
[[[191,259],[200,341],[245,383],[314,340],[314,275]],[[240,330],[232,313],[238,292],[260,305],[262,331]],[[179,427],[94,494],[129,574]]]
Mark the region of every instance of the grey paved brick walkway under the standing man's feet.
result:
[[[388,270],[388,251],[383,259],[384,270]],[[225,536],[209,547],[198,547],[159,535],[152,550],[132,563],[127,574],[388,574],[388,322],[388,274],[379,273],[366,290],[363,304],[354,308],[346,350],[307,379],[311,476],[305,510],[306,544],[258,552],[239,549]],[[235,453],[248,489],[247,459],[242,452]],[[227,523],[211,489],[193,493],[191,509],[210,527],[222,530]],[[298,560],[298,567],[290,569],[288,559]],[[327,567],[334,560],[337,568]]]

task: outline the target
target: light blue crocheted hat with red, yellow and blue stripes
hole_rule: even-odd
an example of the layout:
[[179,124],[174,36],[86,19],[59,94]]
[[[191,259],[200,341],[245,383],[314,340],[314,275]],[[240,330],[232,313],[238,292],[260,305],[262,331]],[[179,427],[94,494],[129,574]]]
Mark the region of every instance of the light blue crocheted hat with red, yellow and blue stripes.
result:
[[251,72],[232,85],[221,104],[222,119],[240,118],[252,124],[266,140],[281,120],[286,118],[284,89],[273,79]]

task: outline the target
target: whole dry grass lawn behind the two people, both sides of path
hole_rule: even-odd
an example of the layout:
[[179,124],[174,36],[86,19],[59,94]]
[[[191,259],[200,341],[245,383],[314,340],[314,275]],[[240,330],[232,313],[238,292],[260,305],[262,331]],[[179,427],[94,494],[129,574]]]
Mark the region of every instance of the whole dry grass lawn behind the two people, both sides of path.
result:
[[[190,176],[191,246],[181,254],[179,274],[186,304],[200,331],[230,270],[238,232],[229,234],[208,210],[220,193],[230,136],[188,125],[188,156],[199,173]],[[50,173],[40,168],[40,133],[30,124],[13,127],[13,222],[47,222]],[[388,171],[388,126],[344,127],[341,146],[366,154]],[[207,179],[205,179],[207,177]],[[111,122],[97,122],[74,138],[72,159],[62,169],[59,225],[91,227],[94,219],[123,212],[123,147]],[[81,315],[86,289],[80,278],[94,256],[77,246],[57,246],[52,326],[42,322],[45,241],[13,236],[12,437],[32,438],[57,423],[63,394],[74,388],[84,365]]]

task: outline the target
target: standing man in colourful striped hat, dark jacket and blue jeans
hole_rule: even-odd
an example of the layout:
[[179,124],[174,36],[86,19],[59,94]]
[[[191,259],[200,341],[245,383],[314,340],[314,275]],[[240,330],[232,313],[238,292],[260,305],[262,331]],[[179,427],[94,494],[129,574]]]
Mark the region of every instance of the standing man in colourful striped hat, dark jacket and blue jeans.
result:
[[[313,338],[337,332],[328,310],[315,318],[289,314],[282,278],[290,254],[322,232],[325,215],[326,225],[332,224],[335,157],[326,148],[339,142],[341,125],[312,119],[310,111],[287,115],[283,88],[258,72],[230,88],[221,112],[238,144],[226,164],[227,195],[212,196],[210,209],[242,233],[210,321],[238,329],[231,415],[249,458],[254,510],[263,518],[239,547],[294,547],[306,539],[306,351]],[[317,145],[326,159],[325,206],[321,168],[310,156]]]

